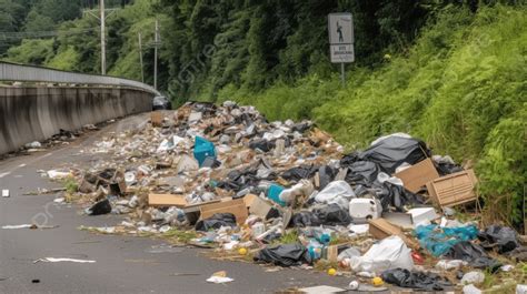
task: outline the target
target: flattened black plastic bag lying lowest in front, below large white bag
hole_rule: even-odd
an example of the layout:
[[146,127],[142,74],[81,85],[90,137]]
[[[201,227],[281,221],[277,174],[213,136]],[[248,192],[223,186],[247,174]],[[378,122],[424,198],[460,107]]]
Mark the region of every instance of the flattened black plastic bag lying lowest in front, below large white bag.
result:
[[437,274],[410,272],[405,268],[384,271],[380,277],[389,284],[425,291],[444,291],[446,287],[453,286],[448,280]]

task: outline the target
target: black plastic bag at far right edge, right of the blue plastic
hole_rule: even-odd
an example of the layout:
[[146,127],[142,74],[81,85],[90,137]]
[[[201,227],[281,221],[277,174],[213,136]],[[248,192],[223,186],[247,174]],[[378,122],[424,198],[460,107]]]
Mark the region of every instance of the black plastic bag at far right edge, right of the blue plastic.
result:
[[507,253],[519,246],[516,231],[508,226],[490,225],[478,234],[484,249],[498,247],[498,253]]

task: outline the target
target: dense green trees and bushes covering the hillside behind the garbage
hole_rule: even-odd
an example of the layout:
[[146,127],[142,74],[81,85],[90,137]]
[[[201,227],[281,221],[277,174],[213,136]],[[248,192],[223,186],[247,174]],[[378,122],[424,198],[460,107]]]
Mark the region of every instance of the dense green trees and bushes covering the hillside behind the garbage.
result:
[[[97,2],[0,0],[0,31],[19,33],[3,34],[10,39],[3,39],[0,54],[21,63],[98,73],[98,21],[81,13]],[[311,118],[349,149],[390,132],[408,132],[429,142],[436,153],[473,162],[486,207],[493,210],[487,215],[521,220],[527,166],[524,4],[107,2],[126,4],[107,21],[110,74],[140,80],[140,32],[145,79],[152,83],[158,19],[159,84],[176,102],[235,99],[257,105],[270,119]],[[344,87],[338,67],[329,62],[326,27],[327,14],[339,11],[352,12],[356,39],[356,62],[347,65]],[[52,31],[52,38],[42,39],[36,30]],[[36,34],[28,36],[31,31]]]

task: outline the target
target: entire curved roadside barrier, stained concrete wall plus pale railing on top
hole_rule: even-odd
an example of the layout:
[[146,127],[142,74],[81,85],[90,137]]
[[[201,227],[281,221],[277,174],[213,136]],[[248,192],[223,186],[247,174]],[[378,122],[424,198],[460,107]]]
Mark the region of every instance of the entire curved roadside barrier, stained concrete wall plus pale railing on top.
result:
[[155,95],[133,80],[0,62],[0,154],[61,129],[149,111]]

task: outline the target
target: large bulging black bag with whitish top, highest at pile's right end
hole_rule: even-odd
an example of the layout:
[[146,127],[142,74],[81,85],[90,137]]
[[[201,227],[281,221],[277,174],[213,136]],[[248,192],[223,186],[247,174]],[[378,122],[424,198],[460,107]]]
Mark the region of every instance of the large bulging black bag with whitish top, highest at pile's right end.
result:
[[392,135],[360,152],[358,158],[365,161],[372,161],[384,172],[392,174],[397,166],[404,162],[416,164],[426,160],[430,155],[429,153],[422,141]]

